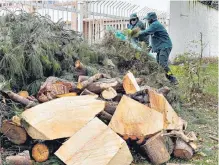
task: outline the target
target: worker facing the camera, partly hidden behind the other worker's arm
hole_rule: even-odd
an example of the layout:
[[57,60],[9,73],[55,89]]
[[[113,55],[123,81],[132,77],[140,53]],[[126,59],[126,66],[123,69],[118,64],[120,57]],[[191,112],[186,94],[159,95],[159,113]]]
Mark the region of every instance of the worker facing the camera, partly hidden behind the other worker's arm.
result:
[[[140,30],[145,30],[145,24],[139,20],[138,16],[136,13],[133,13],[130,15],[128,24],[128,29],[131,30],[139,28]],[[147,45],[149,45],[149,36],[142,36],[142,37],[135,37],[135,41],[140,41],[140,42],[145,42]]]

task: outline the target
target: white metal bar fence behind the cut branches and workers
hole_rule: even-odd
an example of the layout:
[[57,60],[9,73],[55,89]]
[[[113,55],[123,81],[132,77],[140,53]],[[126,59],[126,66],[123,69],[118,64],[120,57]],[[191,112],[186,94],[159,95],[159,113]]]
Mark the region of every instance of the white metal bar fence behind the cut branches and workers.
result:
[[[146,13],[155,11],[148,7],[118,0],[2,0],[0,14],[10,10],[25,10],[48,15],[52,21],[62,19],[66,28],[83,32],[84,37],[91,43],[97,42],[104,36],[107,26],[123,30],[129,23],[129,15],[136,12],[140,19]],[[165,19],[165,13],[156,11],[158,17]]]

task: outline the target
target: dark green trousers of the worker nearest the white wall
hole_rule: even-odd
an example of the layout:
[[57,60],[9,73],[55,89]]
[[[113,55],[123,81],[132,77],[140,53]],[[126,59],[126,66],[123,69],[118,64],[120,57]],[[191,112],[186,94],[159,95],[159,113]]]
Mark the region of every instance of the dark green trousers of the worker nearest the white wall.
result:
[[162,66],[167,74],[171,74],[168,59],[172,48],[164,48],[157,51],[157,63]]

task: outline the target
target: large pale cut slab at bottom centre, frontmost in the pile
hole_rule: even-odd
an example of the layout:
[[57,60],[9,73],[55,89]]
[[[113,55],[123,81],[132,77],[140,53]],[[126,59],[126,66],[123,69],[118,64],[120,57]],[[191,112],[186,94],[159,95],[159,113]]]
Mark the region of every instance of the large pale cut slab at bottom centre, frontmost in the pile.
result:
[[129,165],[132,162],[126,142],[98,118],[75,133],[55,155],[67,165]]

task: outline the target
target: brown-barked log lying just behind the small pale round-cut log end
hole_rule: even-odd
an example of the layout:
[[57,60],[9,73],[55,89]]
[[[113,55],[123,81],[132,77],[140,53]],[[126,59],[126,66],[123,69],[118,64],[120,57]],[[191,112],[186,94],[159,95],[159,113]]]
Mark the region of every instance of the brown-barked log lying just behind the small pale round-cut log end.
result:
[[117,92],[123,91],[122,82],[120,79],[101,79],[97,82],[90,84],[87,89],[96,94],[100,94],[102,91],[108,88],[114,88]]

